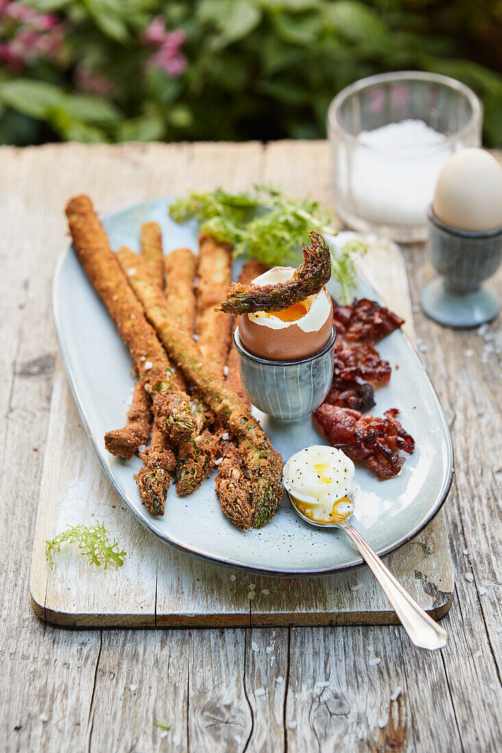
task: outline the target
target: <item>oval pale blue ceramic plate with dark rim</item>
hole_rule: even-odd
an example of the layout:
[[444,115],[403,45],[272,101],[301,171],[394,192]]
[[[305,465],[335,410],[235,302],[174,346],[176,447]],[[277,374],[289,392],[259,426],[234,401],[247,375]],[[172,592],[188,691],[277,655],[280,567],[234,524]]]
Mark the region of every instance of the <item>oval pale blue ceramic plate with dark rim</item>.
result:
[[[137,251],[142,222],[153,220],[161,225],[166,252],[181,245],[197,252],[197,224],[174,223],[167,204],[165,199],[142,203],[104,218],[112,248],[128,245]],[[343,236],[337,236],[338,247]],[[238,273],[237,265],[234,271]],[[337,293],[335,285],[332,293]],[[357,296],[377,299],[363,279],[358,281]],[[219,508],[214,475],[185,498],[178,497],[172,486],[164,517],[148,514],[133,478],[141,466],[139,458],[124,462],[109,455],[103,444],[106,431],[124,425],[134,384],[130,356],[72,247],[57,262],[53,303],[66,373],[99,462],[127,507],[152,533],[194,556],[272,575],[332,573],[362,563],[341,532],[311,528],[286,498],[264,528],[238,531]],[[417,535],[441,507],[451,485],[453,453],[442,407],[409,340],[396,331],[379,343],[378,350],[391,364],[398,363],[399,370],[393,370],[390,383],[376,391],[374,410],[382,415],[398,407],[403,426],[416,441],[415,453],[406,456],[396,478],[378,481],[357,465],[360,490],[353,522],[375,551],[386,554]],[[323,444],[311,419],[282,424],[255,413],[284,460],[303,447]]]

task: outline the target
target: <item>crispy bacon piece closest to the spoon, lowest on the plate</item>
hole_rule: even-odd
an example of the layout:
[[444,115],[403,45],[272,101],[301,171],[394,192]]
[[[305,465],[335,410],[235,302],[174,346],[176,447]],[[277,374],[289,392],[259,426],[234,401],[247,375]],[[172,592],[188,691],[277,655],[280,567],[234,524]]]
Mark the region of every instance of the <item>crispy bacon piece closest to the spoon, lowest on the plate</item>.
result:
[[315,411],[329,444],[352,460],[364,460],[378,478],[396,476],[405,459],[398,451],[412,453],[415,441],[396,419],[399,410],[391,408],[385,418],[363,416],[359,410],[324,403]]

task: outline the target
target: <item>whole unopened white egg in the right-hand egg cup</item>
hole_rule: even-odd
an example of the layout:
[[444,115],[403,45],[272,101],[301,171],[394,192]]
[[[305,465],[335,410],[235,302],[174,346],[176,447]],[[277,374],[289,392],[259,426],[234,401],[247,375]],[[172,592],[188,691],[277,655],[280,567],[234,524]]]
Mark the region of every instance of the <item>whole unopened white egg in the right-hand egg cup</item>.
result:
[[433,212],[457,230],[484,232],[502,227],[502,166],[488,151],[453,154],[436,183]]

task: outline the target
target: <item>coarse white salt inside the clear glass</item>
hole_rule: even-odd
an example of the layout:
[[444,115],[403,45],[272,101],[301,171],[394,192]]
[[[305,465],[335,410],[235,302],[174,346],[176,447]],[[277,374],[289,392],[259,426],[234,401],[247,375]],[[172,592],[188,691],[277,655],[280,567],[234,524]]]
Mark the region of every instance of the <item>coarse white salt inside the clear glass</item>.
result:
[[376,223],[424,224],[439,172],[451,155],[442,148],[446,136],[424,120],[409,119],[361,131],[357,141],[338,155],[337,175],[354,213]]

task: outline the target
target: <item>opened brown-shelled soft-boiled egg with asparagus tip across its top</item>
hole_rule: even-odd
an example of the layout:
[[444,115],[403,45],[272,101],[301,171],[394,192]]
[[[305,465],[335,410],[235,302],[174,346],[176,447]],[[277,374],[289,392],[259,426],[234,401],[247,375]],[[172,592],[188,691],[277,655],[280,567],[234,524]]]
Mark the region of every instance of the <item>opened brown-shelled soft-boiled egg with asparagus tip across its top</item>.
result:
[[[292,267],[274,267],[253,283],[288,282],[294,272]],[[243,314],[238,322],[243,346],[269,361],[296,361],[317,353],[328,342],[332,325],[333,306],[326,288],[283,311]]]

